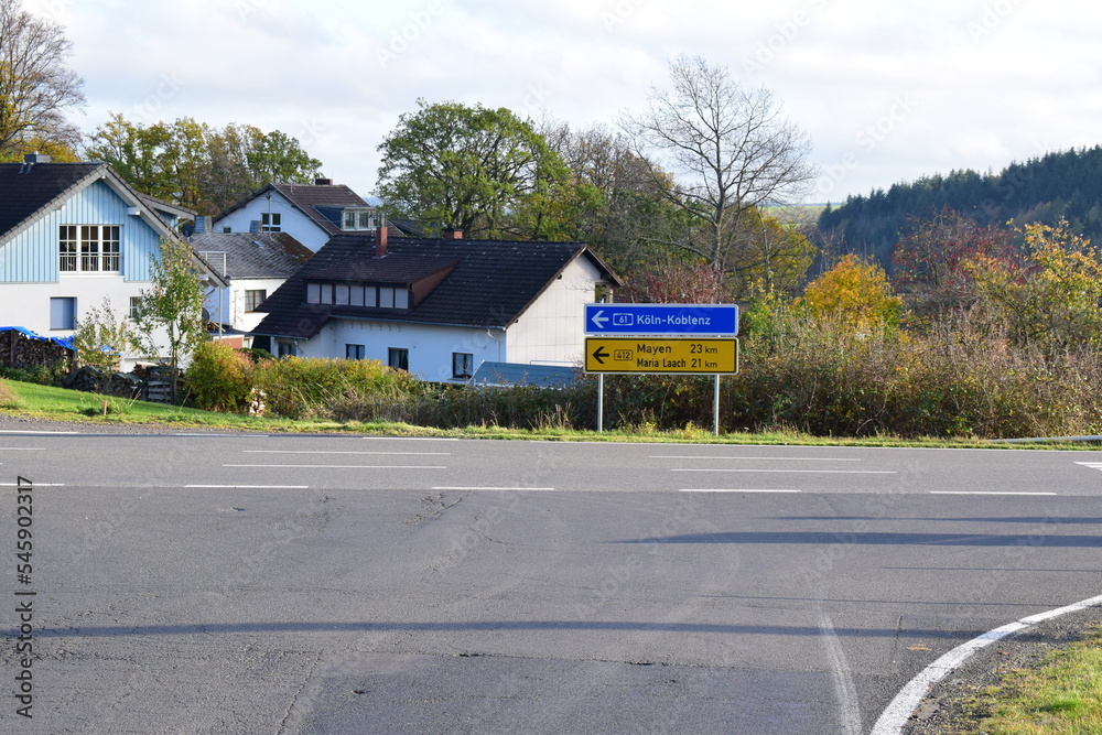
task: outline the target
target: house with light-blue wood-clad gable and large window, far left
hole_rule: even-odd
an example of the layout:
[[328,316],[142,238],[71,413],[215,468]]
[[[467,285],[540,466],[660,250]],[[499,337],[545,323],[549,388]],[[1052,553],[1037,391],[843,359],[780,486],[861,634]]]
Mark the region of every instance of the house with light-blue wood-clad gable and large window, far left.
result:
[[65,339],[105,298],[127,314],[161,239],[192,214],[140,195],[106,163],[0,163],[0,326]]

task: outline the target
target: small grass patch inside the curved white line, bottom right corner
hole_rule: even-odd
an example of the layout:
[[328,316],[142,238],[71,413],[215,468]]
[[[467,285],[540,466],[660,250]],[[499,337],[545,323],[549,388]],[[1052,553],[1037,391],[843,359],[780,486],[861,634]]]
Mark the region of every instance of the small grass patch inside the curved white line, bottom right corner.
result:
[[960,735],[1102,733],[1102,628],[1054,651],[1037,667],[1012,671],[965,705]]

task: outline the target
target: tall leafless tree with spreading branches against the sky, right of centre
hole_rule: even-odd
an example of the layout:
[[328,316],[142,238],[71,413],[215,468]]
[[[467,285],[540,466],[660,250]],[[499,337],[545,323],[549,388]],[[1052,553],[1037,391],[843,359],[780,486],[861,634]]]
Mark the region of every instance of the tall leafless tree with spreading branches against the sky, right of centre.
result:
[[769,90],[742,87],[723,66],[680,55],[670,77],[672,91],[652,87],[648,109],[624,114],[620,126],[652,162],[662,196],[700,224],[678,245],[728,270],[752,224],[746,213],[806,192],[815,175],[811,143]]

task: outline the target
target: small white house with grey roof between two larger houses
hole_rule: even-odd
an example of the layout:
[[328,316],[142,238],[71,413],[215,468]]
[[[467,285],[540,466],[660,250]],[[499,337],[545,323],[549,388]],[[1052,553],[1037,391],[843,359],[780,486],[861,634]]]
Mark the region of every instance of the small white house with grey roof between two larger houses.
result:
[[314,255],[287,233],[208,233],[187,241],[229,283],[208,294],[210,320],[240,333],[260,324],[257,306]]

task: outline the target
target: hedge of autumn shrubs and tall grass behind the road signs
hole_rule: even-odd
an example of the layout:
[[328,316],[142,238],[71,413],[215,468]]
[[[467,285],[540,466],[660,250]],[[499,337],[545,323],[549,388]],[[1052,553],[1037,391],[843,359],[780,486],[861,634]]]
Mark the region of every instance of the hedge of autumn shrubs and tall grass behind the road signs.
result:
[[[595,429],[597,383],[565,389],[419,382],[371,360],[196,360],[196,396],[257,397],[270,414],[440,429]],[[1003,439],[1102,433],[1102,356],[1015,346],[959,315],[915,335],[778,310],[722,381],[723,431]],[[244,371],[242,371],[244,370]],[[244,376],[244,377],[242,377]],[[202,386],[206,385],[206,388]],[[217,388],[217,390],[215,390]],[[222,391],[222,392],[219,392]],[[212,407],[219,401],[210,400]],[[220,401],[233,402],[230,399]],[[692,431],[713,422],[711,376],[608,376],[605,425]]]

